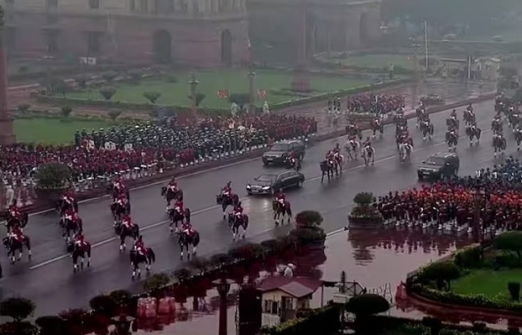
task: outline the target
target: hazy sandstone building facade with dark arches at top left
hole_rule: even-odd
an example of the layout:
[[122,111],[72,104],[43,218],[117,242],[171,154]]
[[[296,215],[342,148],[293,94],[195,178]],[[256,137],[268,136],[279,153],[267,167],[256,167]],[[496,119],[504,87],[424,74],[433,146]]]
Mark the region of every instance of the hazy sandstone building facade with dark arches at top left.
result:
[[245,0],[1,0],[11,56],[216,67],[246,61]]

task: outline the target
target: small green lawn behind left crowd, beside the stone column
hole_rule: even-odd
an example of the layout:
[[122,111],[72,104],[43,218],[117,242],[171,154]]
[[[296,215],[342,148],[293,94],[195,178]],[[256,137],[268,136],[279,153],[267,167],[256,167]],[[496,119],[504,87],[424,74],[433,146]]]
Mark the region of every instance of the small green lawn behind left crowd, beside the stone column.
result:
[[59,119],[34,118],[15,120],[17,142],[66,144],[74,142],[77,129],[100,129],[111,126],[109,121],[77,121],[62,122]]

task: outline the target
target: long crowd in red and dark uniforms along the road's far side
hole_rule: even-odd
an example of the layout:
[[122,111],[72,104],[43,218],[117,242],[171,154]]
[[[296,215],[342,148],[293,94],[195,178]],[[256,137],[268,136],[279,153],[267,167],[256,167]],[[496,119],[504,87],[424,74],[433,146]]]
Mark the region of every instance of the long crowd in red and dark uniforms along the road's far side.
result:
[[42,164],[62,162],[76,179],[97,177],[157,163],[180,165],[219,158],[315,131],[317,122],[311,118],[277,114],[235,119],[207,117],[184,124],[171,117],[155,123],[77,131],[74,145],[0,147],[0,171],[4,177],[24,178]]

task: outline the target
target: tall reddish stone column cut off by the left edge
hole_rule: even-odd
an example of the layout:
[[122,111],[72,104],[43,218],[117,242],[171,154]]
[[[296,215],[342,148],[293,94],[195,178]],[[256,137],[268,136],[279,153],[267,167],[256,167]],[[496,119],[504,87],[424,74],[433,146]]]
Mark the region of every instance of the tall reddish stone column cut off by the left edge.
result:
[[4,40],[3,8],[0,6],[0,145],[10,145],[15,142],[15,134],[7,105],[7,58]]

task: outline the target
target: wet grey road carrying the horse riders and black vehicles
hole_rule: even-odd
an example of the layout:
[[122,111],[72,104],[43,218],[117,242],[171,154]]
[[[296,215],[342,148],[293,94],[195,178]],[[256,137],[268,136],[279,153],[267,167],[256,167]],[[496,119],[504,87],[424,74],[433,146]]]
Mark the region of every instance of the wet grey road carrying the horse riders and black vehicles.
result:
[[[488,131],[493,115],[491,101],[475,106],[477,120],[484,130],[480,147],[468,147],[466,139],[459,143],[461,174],[470,174],[478,166],[493,164],[491,133]],[[377,158],[375,166],[364,168],[361,162],[350,162],[345,166],[343,176],[321,183],[318,162],[335,142],[344,138],[317,143],[308,150],[302,172],[307,180],[301,190],[289,192],[294,211],[317,209],[324,216],[326,231],[340,229],[346,224],[346,215],[351,200],[361,190],[376,195],[388,190],[402,189],[418,183],[416,166],[429,154],[446,149],[444,143],[445,118],[449,112],[432,115],[435,136],[431,143],[422,142],[414,126],[409,123],[415,142],[411,162],[401,164],[397,158],[394,129],[386,127],[385,136],[375,140]],[[461,117],[461,113],[459,113]],[[508,136],[508,152],[516,152],[512,136]],[[226,224],[221,222],[221,209],[215,205],[215,195],[226,181],[244,196],[244,185],[248,180],[266,171],[260,159],[200,172],[179,180],[184,190],[185,204],[193,212],[193,225],[200,231],[200,254],[224,251],[232,245],[231,234]],[[271,170],[271,169],[270,169]],[[165,204],[159,197],[161,185],[133,190],[132,211],[134,221],[143,230],[145,243],[153,247],[157,254],[154,272],[171,271],[180,264],[175,240],[168,234],[165,224]],[[274,228],[271,220],[271,199],[263,197],[244,197],[246,213],[250,215],[251,227],[247,236],[261,240],[274,234],[285,234],[287,227]],[[60,238],[55,213],[42,213],[31,216],[27,234],[33,241],[33,259],[23,259],[13,266],[2,257],[6,278],[0,283],[0,298],[11,295],[24,295],[38,305],[36,314],[54,313],[67,307],[81,307],[89,297],[116,288],[137,290],[140,283],[132,283],[127,254],[118,252],[118,242],[114,239],[109,199],[100,199],[81,204],[80,214],[84,219],[86,237],[93,244],[93,266],[79,274],[72,273],[71,259],[65,255],[65,245]]]

